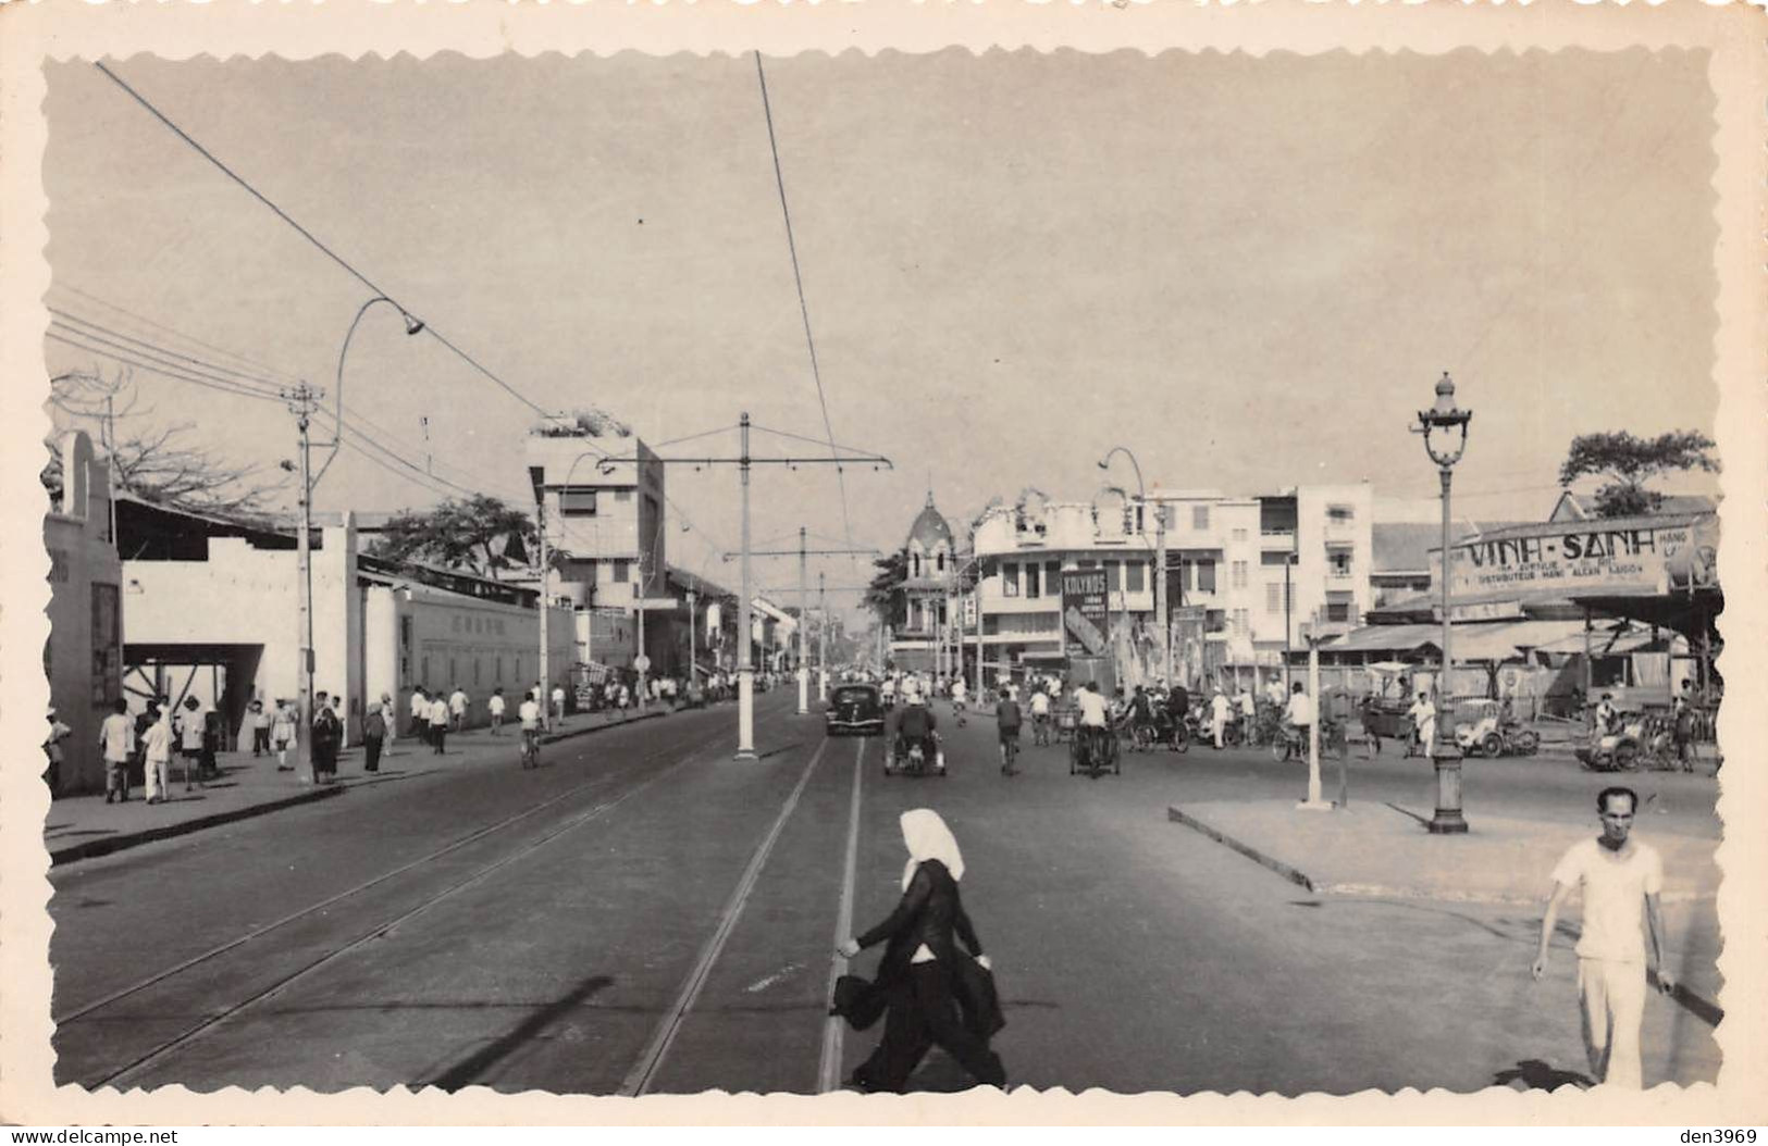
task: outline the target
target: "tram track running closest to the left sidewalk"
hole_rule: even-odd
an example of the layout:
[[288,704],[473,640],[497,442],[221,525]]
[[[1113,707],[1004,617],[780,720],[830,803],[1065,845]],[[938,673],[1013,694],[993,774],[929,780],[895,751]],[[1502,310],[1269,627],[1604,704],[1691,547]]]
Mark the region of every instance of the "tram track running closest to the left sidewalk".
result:
[[[667,777],[677,773],[679,770],[682,770],[690,763],[698,761],[709,747],[713,747],[714,743],[720,743],[723,740],[725,740],[723,733],[718,733],[718,735],[714,735],[714,736],[711,736],[707,740],[702,740],[695,747],[691,747],[688,752],[684,752],[681,756],[681,759],[677,759],[675,763],[661,768],[659,772],[651,773],[649,777],[644,777],[644,779],[640,779],[636,782],[631,782],[631,784],[622,784],[622,780],[626,777],[613,777],[613,779],[610,779],[610,777],[605,777],[605,775],[591,779],[591,780],[583,780],[582,784],[575,784],[575,786],[571,786],[569,789],[566,789],[562,793],[548,796],[546,800],[541,800],[539,803],[534,803],[534,805],[530,805],[527,809],[522,809],[522,810],[518,810],[518,812],[514,812],[511,816],[506,816],[506,818],[499,819],[497,823],[486,825],[483,828],[476,828],[474,832],[469,832],[467,835],[463,835],[460,839],[454,839],[449,844],[446,844],[442,848],[437,848],[437,849],[433,849],[433,851],[430,851],[430,853],[426,853],[426,855],[423,855],[423,856],[419,856],[415,860],[401,863],[400,867],[396,867],[396,869],[392,869],[389,872],[382,872],[382,874],[378,874],[378,876],[375,876],[371,879],[361,881],[361,883],[357,883],[357,885],[354,885],[350,888],[345,888],[343,892],[329,895],[327,899],[324,899],[320,902],[315,902],[315,904],[309,904],[309,906],[306,906],[306,908],[302,908],[299,911],[288,913],[288,915],[285,915],[285,916],[281,916],[281,918],[278,918],[278,920],[274,920],[271,924],[256,927],[256,929],[253,929],[253,931],[249,931],[249,932],[246,932],[246,934],[242,934],[242,936],[239,936],[235,939],[230,939],[226,943],[216,945],[216,946],[212,946],[212,948],[209,948],[209,950],[205,950],[205,952],[202,952],[202,954],[198,954],[194,957],[184,959],[182,962],[179,962],[179,964],[175,964],[171,968],[164,968],[161,971],[156,971],[154,975],[149,975],[149,976],[145,976],[145,978],[141,978],[141,980],[138,980],[138,982],[134,982],[134,984],[131,984],[127,987],[113,991],[113,992],[106,994],[101,999],[95,999],[92,1003],[87,1003],[87,1005],[80,1007],[78,1010],[72,1010],[72,1012],[67,1012],[67,1014],[57,1017],[55,1022],[57,1022],[58,1031],[67,1031],[69,1028],[74,1028],[80,1022],[99,1022],[99,1021],[104,1021],[106,1012],[117,1010],[126,1001],[147,996],[156,987],[171,987],[173,984],[182,982],[186,978],[191,978],[194,975],[203,975],[203,973],[210,971],[214,968],[214,964],[217,964],[217,961],[225,961],[228,955],[246,955],[251,950],[255,950],[258,945],[262,945],[267,938],[272,938],[278,932],[288,931],[295,924],[318,920],[318,918],[325,916],[332,908],[338,908],[341,904],[348,904],[350,901],[361,901],[368,892],[371,892],[375,888],[382,888],[384,885],[389,885],[391,881],[398,879],[403,874],[419,871],[419,869],[423,869],[426,865],[437,863],[438,860],[449,858],[449,856],[453,856],[453,855],[456,855],[456,853],[470,848],[472,844],[483,842],[483,841],[486,841],[486,839],[490,839],[490,837],[493,837],[493,835],[497,835],[500,832],[507,832],[507,830],[511,830],[511,828],[514,828],[514,826],[518,826],[518,825],[532,819],[534,816],[537,816],[537,814],[541,814],[541,812],[545,812],[548,809],[555,809],[557,805],[566,803],[566,802],[569,802],[573,798],[583,798],[585,793],[591,793],[591,798],[606,796],[606,798],[599,798],[592,807],[589,807],[589,809],[585,809],[582,812],[576,812],[576,814],[566,818],[559,825],[555,825],[550,830],[543,832],[539,837],[527,841],[525,844],[522,844],[514,851],[509,851],[509,853],[499,856],[497,860],[493,860],[490,863],[481,863],[481,865],[474,867],[465,878],[453,879],[440,892],[435,892],[431,895],[423,897],[415,906],[407,906],[403,909],[398,909],[391,916],[387,916],[387,915],[378,916],[377,922],[373,922],[368,927],[359,927],[357,934],[354,938],[343,941],[343,943],[325,945],[322,950],[315,952],[311,959],[306,959],[304,962],[293,966],[292,969],[279,971],[267,984],[256,985],[255,989],[251,989],[251,992],[246,998],[239,998],[239,999],[230,1001],[226,1007],[217,1008],[217,1010],[203,1015],[200,1021],[196,1021],[194,1024],[191,1024],[186,1029],[179,1031],[177,1035],[173,1035],[170,1038],[159,1040],[149,1051],[145,1051],[141,1054],[131,1056],[131,1059],[127,1063],[124,1063],[120,1067],[106,1068],[106,1072],[103,1074],[103,1077],[95,1077],[95,1079],[90,1079],[90,1081],[81,1081],[81,1084],[88,1086],[90,1089],[97,1089],[101,1086],[127,1084],[127,1079],[141,1074],[143,1070],[147,1070],[149,1067],[152,1067],[156,1063],[164,1061],[170,1054],[173,1054],[180,1047],[189,1045],[191,1042],[202,1038],[205,1033],[216,1029],[217,1026],[226,1024],[230,1019],[235,1019],[242,1012],[246,1012],[246,1010],[249,1010],[253,1007],[258,1007],[258,1005],[262,1005],[262,1003],[276,998],[278,994],[281,994],[283,991],[286,991],[293,984],[304,980],[313,971],[316,971],[316,969],[320,969],[320,968],[334,962],[336,959],[339,959],[339,957],[343,957],[343,955],[347,955],[347,954],[350,954],[354,950],[359,950],[361,946],[375,941],[377,938],[385,936],[394,927],[398,927],[398,925],[405,924],[407,920],[410,920],[410,918],[414,918],[414,916],[417,916],[417,915],[421,915],[421,913],[435,908],[440,902],[446,902],[446,901],[456,897],[458,893],[461,893],[461,892],[476,886],[477,883],[488,879],[492,874],[502,871],[504,867],[509,867],[511,863],[534,855],[536,851],[539,851],[546,844],[553,842],[555,839],[566,835],[568,832],[573,832],[575,828],[580,828],[580,826],[583,826],[587,823],[592,823],[596,819],[605,818],[608,812],[612,812],[613,809],[617,809],[621,803],[624,803],[624,802],[631,800],[633,796],[636,796],[636,795],[640,795],[640,793],[654,788],[656,784],[659,784]],[[681,745],[672,745],[668,749],[661,749],[658,752],[647,754],[644,758],[644,765],[654,763],[656,759],[665,758],[665,756],[679,750],[679,747]]]

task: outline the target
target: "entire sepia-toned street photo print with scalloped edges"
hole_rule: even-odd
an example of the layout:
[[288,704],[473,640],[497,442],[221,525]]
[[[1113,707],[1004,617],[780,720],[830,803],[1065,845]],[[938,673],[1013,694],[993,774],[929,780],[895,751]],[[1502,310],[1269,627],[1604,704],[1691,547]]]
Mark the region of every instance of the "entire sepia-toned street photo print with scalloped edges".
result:
[[1696,16],[44,57],[46,1086],[1720,1093]]

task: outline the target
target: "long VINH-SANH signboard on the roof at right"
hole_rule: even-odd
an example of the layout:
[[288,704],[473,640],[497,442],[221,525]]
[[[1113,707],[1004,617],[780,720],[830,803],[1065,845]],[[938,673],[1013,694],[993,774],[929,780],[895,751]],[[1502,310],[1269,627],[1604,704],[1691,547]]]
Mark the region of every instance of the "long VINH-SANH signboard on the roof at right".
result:
[[[1717,546],[1715,517],[1623,517],[1501,530],[1450,546],[1450,599],[1665,593],[1671,572]],[[1711,565],[1711,558],[1704,560]],[[1430,551],[1443,576],[1443,551]],[[1678,577],[1678,581],[1683,577]]]

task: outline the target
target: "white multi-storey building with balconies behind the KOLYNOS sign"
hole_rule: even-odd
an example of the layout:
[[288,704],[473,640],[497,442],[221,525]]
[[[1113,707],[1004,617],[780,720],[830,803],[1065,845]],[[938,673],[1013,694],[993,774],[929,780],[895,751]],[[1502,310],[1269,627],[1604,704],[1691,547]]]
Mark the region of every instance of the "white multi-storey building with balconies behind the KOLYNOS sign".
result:
[[1284,662],[1303,623],[1351,627],[1370,606],[1374,498],[1367,484],[1308,486],[1269,496],[1153,489],[1146,505],[1117,489],[1093,501],[1027,491],[976,530],[979,643],[1011,667],[1066,657],[1061,574],[1105,574],[1114,655],[1124,680],[1163,673],[1155,569],[1165,523],[1174,675]]

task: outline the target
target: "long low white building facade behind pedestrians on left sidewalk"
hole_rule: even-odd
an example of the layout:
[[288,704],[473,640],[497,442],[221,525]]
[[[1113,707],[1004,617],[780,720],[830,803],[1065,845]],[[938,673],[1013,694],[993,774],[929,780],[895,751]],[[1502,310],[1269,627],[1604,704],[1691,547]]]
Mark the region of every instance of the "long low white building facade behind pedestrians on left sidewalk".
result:
[[[292,539],[233,530],[170,510],[157,533],[122,562],[124,613],[134,708],[152,694],[194,696],[249,745],[246,705],[299,694],[301,577]],[[149,526],[143,528],[143,537]],[[129,533],[120,530],[124,537]],[[316,532],[313,577],[313,687],[341,696],[347,736],[361,738],[368,705],[387,694],[405,729],[414,687],[463,689],[476,719],[493,689],[520,696],[539,680],[539,611],[532,590],[453,576],[460,590],[400,574],[361,556],[354,524]],[[461,592],[465,590],[465,592]],[[571,613],[553,607],[548,682],[571,680]]]

